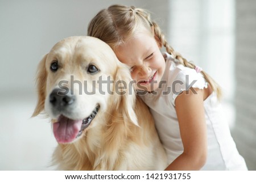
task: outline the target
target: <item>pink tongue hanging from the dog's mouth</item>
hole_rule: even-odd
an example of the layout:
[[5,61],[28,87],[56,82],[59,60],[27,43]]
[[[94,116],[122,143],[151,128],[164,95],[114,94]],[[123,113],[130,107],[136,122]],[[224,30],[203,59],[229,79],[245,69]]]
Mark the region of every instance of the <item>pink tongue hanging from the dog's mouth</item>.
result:
[[82,126],[82,120],[71,120],[63,115],[58,121],[53,123],[53,133],[59,143],[72,142],[79,133]]

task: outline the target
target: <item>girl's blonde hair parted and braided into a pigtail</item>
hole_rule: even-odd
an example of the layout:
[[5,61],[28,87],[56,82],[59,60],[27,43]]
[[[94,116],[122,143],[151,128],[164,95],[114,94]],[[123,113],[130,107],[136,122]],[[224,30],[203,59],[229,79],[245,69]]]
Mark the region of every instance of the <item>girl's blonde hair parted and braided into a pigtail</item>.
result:
[[[166,52],[179,60],[180,64],[195,69],[192,62],[188,62],[176,52],[166,41],[158,24],[151,20],[150,14],[144,9],[127,7],[122,5],[112,5],[108,9],[103,9],[91,20],[88,26],[88,36],[97,37],[109,44],[113,50],[122,45],[126,40],[135,35],[139,28],[146,28],[153,32],[156,41],[166,48]],[[221,98],[220,86],[207,74],[201,71],[206,81],[216,92],[218,99]]]

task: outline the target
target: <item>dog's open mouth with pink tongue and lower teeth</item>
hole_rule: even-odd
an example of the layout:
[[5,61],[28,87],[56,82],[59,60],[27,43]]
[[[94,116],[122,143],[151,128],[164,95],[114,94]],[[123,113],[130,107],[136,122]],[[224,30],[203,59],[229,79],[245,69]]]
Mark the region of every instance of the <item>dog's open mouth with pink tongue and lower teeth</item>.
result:
[[53,123],[53,133],[59,143],[70,143],[81,136],[82,132],[88,128],[94,117],[96,117],[100,105],[93,109],[90,116],[81,120],[72,120],[71,118],[60,115],[57,122]]

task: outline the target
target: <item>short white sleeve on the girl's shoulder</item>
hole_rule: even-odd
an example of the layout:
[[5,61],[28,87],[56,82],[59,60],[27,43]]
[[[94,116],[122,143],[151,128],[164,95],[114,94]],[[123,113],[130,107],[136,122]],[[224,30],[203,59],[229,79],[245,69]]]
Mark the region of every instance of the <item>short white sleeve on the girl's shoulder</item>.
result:
[[207,88],[207,82],[201,73],[197,73],[195,69],[189,67],[177,66],[179,69],[176,77],[172,79],[172,96],[170,97],[171,103],[175,106],[175,99],[177,96],[189,88]]

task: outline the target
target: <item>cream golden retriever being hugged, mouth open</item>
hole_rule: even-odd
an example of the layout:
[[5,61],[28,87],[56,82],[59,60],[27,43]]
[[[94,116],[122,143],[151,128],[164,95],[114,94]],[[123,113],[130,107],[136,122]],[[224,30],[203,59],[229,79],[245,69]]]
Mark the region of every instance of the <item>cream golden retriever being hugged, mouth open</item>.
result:
[[38,66],[32,116],[51,117],[57,170],[164,170],[166,153],[129,68],[88,36],[59,41]]

